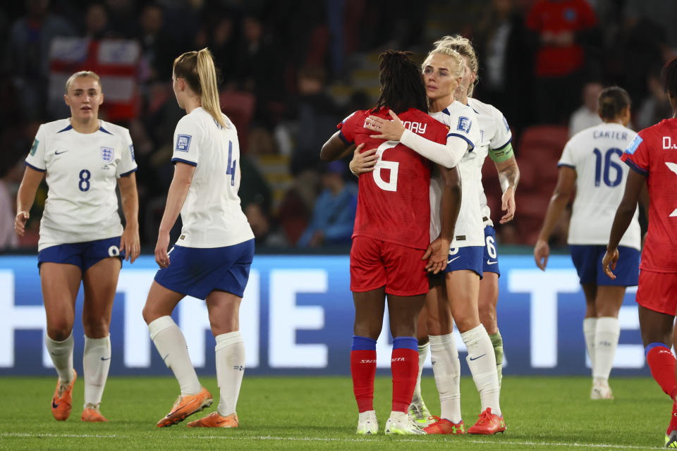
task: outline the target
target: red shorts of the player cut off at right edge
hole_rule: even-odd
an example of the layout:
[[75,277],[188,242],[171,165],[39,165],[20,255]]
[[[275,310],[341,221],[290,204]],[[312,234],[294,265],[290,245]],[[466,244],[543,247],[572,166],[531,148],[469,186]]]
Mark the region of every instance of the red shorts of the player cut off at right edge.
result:
[[674,316],[677,310],[677,273],[640,271],[635,300],[642,307]]

